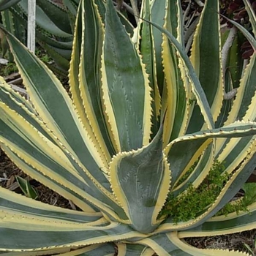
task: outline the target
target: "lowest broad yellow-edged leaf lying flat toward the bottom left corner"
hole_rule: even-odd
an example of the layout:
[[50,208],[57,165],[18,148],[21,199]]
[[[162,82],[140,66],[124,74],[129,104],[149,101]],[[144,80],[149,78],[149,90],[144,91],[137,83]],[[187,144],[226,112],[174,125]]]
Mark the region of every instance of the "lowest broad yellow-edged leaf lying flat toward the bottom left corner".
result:
[[[23,222],[20,222],[22,218],[22,215],[15,220],[12,217],[6,217],[5,222],[0,222],[1,250],[71,248],[145,237],[129,226],[119,223],[99,227],[81,223],[75,225],[74,223],[45,222],[29,217],[26,220],[23,218]],[[17,222],[19,222],[18,226]]]

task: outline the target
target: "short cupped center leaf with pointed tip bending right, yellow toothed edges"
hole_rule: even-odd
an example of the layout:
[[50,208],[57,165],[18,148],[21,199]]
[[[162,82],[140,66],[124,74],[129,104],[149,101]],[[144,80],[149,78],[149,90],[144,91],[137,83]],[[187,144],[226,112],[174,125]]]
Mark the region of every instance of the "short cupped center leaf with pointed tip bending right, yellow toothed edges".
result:
[[117,200],[141,233],[152,232],[167,197],[170,170],[162,153],[162,130],[138,151],[118,154],[110,162],[110,183]]

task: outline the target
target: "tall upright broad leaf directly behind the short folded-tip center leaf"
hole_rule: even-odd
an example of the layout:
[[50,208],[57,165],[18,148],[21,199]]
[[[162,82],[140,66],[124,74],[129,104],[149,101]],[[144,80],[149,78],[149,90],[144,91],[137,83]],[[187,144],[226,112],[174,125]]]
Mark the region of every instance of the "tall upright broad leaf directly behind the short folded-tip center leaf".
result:
[[110,0],[105,18],[102,91],[105,118],[116,151],[146,145],[151,134],[148,75]]

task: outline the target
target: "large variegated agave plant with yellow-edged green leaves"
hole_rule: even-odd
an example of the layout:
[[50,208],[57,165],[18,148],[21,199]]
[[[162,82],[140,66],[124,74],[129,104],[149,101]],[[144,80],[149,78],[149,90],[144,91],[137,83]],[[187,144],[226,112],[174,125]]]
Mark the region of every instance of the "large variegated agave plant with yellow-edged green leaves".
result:
[[[1,255],[243,255],[184,240],[256,227],[253,202],[249,213],[214,217],[256,164],[256,55],[227,113],[218,10],[219,1],[205,2],[189,59],[180,1],[144,0],[132,35],[111,0],[81,0],[72,99],[45,64],[4,32],[30,97],[1,78],[1,148],[80,211],[0,188]],[[249,4],[246,10],[255,31]],[[159,214],[168,195],[199,187],[216,160],[229,176],[216,200],[186,221]]]

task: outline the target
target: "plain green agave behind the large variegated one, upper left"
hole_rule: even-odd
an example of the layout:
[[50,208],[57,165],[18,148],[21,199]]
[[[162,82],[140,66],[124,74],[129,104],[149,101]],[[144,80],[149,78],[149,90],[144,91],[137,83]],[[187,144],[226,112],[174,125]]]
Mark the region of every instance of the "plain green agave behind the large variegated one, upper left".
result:
[[[98,5],[99,12],[103,18],[105,15],[105,1],[98,0],[95,3]],[[47,51],[50,58],[54,60],[54,65],[51,64],[48,67],[61,75],[67,75],[69,69],[78,4],[78,0],[63,0],[61,4],[56,4],[53,0],[37,0],[37,42]],[[27,0],[21,0],[10,11],[15,16],[10,21],[12,26],[20,24],[24,27],[27,26]],[[132,34],[132,25],[121,14],[119,15],[127,31]],[[15,31],[11,32],[15,33]],[[21,39],[19,34],[16,33],[15,36]]]

